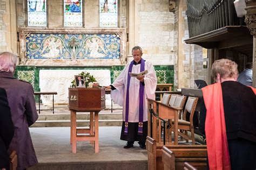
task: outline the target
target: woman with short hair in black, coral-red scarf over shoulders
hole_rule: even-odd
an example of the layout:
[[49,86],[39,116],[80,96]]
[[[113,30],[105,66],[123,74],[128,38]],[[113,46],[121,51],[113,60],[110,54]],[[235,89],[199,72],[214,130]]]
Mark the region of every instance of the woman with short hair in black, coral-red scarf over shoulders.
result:
[[216,60],[216,83],[202,89],[199,130],[205,134],[210,169],[256,169],[255,89],[237,82],[237,64]]

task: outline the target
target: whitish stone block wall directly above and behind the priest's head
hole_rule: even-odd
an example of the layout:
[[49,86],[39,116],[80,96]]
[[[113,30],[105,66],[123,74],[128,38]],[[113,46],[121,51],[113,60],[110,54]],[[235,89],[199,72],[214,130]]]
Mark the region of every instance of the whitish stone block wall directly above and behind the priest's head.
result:
[[[136,1],[137,2],[137,1]],[[143,56],[154,65],[173,65],[174,14],[168,0],[138,1],[138,29],[134,45],[143,48]]]

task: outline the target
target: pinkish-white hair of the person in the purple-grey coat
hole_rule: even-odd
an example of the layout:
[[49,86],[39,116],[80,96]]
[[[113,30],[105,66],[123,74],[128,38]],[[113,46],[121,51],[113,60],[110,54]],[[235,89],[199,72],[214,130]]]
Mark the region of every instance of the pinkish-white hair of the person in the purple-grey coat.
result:
[[0,53],[0,72],[14,73],[17,62],[17,56],[10,52]]

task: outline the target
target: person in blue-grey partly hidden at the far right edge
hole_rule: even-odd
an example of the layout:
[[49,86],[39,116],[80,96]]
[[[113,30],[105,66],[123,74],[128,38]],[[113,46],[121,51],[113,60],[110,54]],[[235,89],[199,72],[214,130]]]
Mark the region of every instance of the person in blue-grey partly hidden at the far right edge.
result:
[[252,86],[252,63],[251,62],[248,62],[245,65],[245,69],[239,74],[237,81],[246,86]]

